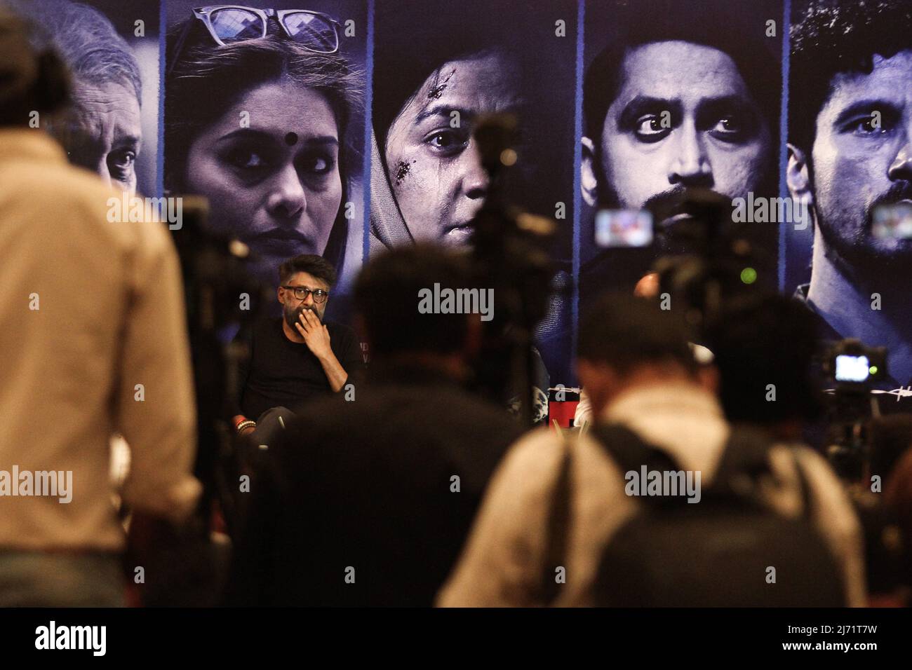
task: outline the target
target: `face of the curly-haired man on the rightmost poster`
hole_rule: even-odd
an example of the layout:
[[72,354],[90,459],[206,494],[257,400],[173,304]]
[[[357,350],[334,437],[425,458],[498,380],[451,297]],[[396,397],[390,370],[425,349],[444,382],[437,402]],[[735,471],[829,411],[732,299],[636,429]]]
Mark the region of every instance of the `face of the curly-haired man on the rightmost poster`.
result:
[[846,262],[912,261],[912,240],[878,240],[879,205],[912,202],[912,49],[840,73],[817,115],[814,204],[828,245]]

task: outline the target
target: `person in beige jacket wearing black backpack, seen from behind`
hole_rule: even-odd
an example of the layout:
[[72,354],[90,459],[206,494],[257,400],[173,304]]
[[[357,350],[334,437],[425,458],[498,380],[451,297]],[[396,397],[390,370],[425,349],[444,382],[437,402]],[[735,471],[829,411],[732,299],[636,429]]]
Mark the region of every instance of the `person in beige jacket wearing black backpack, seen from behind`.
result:
[[679,314],[604,297],[577,372],[594,426],[513,445],[438,605],[865,604],[838,479],[809,448],[732,428]]

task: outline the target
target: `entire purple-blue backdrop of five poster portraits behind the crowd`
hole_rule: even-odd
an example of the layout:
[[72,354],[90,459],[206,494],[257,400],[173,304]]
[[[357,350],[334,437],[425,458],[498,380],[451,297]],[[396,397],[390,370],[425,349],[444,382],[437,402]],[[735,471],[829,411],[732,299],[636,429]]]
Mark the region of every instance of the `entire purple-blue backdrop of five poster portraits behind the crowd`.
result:
[[[908,0],[793,0],[788,17],[782,0],[315,0],[316,20],[284,28],[276,12],[300,3],[255,0],[212,26],[199,0],[3,2],[74,71],[75,105],[50,127],[70,160],[125,191],[206,196],[267,283],[296,253],[326,255],[342,276],[330,313],[366,249],[467,243],[489,186],[472,129],[513,111],[506,195],[559,224],[537,333],[552,386],[574,383],[575,307],[632,290],[663,252],[597,246],[596,212],[700,186],[807,204],[811,221],[771,201],[749,223],[760,281],[797,289],[824,333],[886,345],[885,390],[912,396],[912,242],[875,226],[912,200]],[[284,32],[304,28],[306,46]]]

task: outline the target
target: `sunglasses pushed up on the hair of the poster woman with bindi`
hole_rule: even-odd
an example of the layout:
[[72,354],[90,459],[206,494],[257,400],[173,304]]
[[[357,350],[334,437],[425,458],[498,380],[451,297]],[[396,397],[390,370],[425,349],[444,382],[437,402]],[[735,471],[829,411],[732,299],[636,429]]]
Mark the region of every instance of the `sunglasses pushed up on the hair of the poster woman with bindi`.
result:
[[[269,30],[269,19],[275,18],[285,36],[308,51],[335,54],[339,49],[339,22],[322,12],[310,9],[259,9],[244,5],[208,5],[196,7],[192,11],[219,46],[265,37]],[[181,56],[191,23],[187,24],[174,48],[169,73]]]

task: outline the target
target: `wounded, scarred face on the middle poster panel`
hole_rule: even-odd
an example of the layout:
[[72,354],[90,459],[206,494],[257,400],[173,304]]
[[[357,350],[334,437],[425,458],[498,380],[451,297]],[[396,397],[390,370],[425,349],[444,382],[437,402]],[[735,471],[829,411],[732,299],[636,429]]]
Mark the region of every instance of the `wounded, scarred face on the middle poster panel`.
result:
[[[389,128],[386,162],[416,240],[468,242],[488,192],[472,130],[482,113],[519,104],[519,71],[497,52],[452,60],[421,85]],[[454,116],[454,112],[458,116]]]

